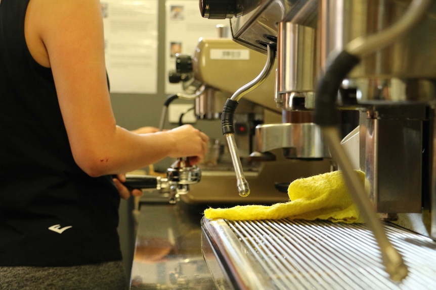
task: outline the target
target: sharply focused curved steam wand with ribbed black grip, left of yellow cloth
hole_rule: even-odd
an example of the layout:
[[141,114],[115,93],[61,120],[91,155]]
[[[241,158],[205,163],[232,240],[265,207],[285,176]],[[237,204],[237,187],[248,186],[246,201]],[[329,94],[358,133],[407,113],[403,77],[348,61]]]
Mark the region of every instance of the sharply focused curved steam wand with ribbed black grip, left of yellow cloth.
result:
[[227,99],[226,104],[223,108],[223,114],[221,115],[223,135],[226,137],[227,145],[229,147],[230,155],[232,157],[232,163],[237,178],[238,192],[239,195],[242,197],[246,197],[250,194],[250,188],[248,186],[247,180],[244,177],[244,171],[242,170],[238,147],[236,146],[233,115],[235,113],[236,107],[238,106],[238,101],[242,98],[242,96],[257,88],[261,83],[266,80],[266,78],[270,74],[274,66],[276,51],[271,45],[268,45],[267,48],[268,57],[264,69],[254,80],[239,88],[230,99]]

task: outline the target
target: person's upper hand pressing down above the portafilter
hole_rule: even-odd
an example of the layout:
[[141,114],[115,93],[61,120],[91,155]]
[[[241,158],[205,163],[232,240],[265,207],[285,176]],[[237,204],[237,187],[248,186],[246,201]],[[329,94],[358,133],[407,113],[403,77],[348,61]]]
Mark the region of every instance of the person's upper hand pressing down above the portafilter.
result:
[[197,164],[204,159],[208,150],[209,137],[191,125],[183,125],[165,132],[175,141],[175,147],[169,157],[190,157],[191,164]]

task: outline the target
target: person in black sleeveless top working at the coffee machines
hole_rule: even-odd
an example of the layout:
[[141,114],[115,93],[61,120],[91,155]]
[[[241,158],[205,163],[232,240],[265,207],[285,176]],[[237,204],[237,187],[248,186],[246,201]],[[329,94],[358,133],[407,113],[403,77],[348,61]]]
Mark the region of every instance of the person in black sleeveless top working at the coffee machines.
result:
[[116,126],[98,0],[0,0],[0,289],[125,289],[111,175],[208,137]]

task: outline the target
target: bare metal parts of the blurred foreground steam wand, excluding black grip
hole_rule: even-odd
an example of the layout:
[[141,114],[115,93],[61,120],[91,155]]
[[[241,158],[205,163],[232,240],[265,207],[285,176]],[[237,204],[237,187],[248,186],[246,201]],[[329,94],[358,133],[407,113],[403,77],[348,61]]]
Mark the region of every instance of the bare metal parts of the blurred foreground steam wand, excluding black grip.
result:
[[[393,43],[399,37],[404,36],[405,33],[407,33],[415,24],[417,24],[424,17],[431,3],[432,0],[413,0],[405,16],[401,18],[398,22],[396,22],[393,26],[374,35],[356,38],[345,46],[345,50],[339,56],[348,54],[350,56],[360,58],[364,54],[371,53],[379,49],[380,47]],[[333,62],[333,65],[337,64]],[[324,77],[321,80],[320,87],[322,88],[323,85],[325,87],[328,82],[329,78]],[[319,93],[322,95],[322,91],[320,91]],[[331,100],[333,99],[334,98],[331,98]],[[334,104],[332,103],[331,105],[332,107],[334,106]],[[330,152],[333,158],[342,168],[344,181],[347,187],[350,189],[352,197],[356,202],[360,213],[363,215],[365,221],[368,223],[368,226],[373,232],[374,237],[380,247],[383,264],[386,267],[386,272],[389,274],[392,280],[401,281],[408,274],[407,267],[405,266],[401,255],[387,239],[386,233],[384,232],[382,225],[378,220],[367,197],[365,188],[360,184],[354,172],[350,158],[340,146],[340,138],[337,129],[334,126],[324,125],[322,126],[322,132],[324,135],[324,139],[330,148]]]

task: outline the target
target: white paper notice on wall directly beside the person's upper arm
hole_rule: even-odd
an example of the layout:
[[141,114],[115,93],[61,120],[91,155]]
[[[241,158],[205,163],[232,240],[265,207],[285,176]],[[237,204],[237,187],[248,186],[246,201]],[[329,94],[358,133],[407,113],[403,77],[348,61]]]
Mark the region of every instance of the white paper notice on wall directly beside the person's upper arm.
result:
[[157,92],[157,1],[102,0],[111,92]]

